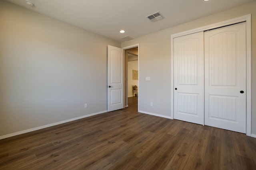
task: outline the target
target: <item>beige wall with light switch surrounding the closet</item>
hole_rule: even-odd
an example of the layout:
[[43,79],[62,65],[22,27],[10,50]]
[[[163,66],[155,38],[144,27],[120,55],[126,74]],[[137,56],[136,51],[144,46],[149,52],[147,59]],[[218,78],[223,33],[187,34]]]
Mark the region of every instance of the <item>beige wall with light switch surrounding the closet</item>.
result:
[[[256,134],[256,2],[122,43],[122,47],[140,44],[140,111],[170,116],[171,34],[246,14],[252,14],[252,133]],[[151,81],[145,81],[147,76]],[[150,102],[153,102],[153,107],[150,107]]]

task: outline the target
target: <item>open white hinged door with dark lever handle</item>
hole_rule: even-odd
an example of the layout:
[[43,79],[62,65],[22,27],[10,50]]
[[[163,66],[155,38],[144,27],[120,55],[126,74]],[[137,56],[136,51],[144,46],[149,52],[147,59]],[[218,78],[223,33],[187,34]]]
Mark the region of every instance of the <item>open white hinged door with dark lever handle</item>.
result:
[[108,45],[108,111],[124,108],[124,50]]

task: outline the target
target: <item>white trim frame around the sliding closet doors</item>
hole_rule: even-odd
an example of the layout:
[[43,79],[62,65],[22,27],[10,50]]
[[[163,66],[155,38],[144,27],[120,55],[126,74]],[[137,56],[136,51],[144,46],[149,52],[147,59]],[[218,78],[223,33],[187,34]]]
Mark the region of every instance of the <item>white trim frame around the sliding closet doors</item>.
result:
[[173,40],[176,37],[188,35],[209,29],[216,29],[239,22],[246,21],[246,135],[252,136],[252,27],[251,27],[251,14],[233,18],[218,23],[213,23],[203,27],[190,29],[180,33],[172,34],[171,37],[171,119],[174,118],[174,51]]

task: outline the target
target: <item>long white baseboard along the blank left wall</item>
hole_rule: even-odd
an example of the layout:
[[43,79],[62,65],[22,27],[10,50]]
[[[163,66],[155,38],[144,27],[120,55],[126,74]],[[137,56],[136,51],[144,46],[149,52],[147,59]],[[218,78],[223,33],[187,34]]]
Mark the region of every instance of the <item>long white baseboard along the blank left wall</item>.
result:
[[74,120],[78,120],[78,119],[83,119],[85,117],[90,117],[90,116],[98,115],[98,114],[101,114],[101,113],[106,113],[106,112],[107,112],[107,110],[100,111],[100,112],[92,113],[92,114],[89,114],[89,115],[75,117],[75,118],[72,118],[72,119],[68,119],[68,120],[64,120],[64,121],[59,121],[59,122],[56,122],[56,123],[51,123],[51,124],[43,125],[43,126],[40,126],[40,127],[35,127],[35,128],[27,129],[27,130],[24,130],[24,131],[19,131],[19,132],[11,133],[11,134],[8,134],[8,135],[3,135],[3,136],[0,136],[0,140],[8,138],[8,137],[13,137],[13,136],[16,136],[16,135],[21,135],[23,133],[28,133],[28,132],[36,131],[36,130],[39,130],[39,129],[44,129],[46,127],[51,127],[51,126],[55,126],[55,125],[60,125],[62,123],[67,123],[67,122],[70,122],[70,121],[74,121]]

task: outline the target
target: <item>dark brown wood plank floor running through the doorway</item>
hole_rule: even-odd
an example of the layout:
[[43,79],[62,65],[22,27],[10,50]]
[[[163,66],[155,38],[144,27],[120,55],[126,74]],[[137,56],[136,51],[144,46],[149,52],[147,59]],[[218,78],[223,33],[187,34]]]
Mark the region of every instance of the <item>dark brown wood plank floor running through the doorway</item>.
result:
[[129,107],[0,140],[0,169],[256,169],[256,138]]

